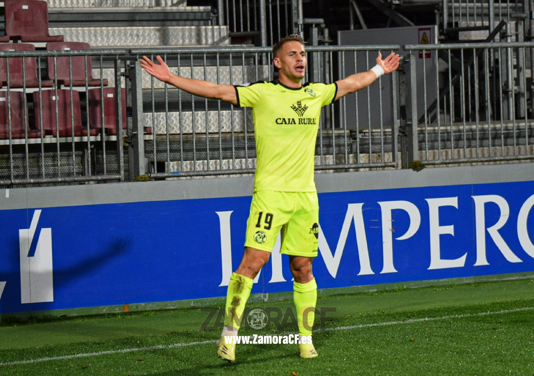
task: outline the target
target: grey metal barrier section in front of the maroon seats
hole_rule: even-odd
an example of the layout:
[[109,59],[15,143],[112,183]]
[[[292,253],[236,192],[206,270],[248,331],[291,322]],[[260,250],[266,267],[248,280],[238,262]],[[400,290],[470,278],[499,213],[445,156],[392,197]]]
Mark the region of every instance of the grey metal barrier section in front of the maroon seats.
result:
[[0,52],[0,185],[124,180],[125,53]]

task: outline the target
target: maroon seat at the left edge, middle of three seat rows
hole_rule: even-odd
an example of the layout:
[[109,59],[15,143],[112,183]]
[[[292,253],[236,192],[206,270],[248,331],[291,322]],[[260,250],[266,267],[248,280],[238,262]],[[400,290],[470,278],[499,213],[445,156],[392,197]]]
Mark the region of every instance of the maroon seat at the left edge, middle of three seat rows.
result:
[[[35,51],[33,44],[27,43],[0,43],[0,51]],[[37,79],[37,58],[25,58],[26,64],[26,87],[36,88],[39,86]],[[0,81],[3,86],[7,85],[7,59],[0,59]],[[22,88],[22,58],[9,59],[9,84],[11,88]],[[42,80],[43,87],[51,87],[53,81]]]

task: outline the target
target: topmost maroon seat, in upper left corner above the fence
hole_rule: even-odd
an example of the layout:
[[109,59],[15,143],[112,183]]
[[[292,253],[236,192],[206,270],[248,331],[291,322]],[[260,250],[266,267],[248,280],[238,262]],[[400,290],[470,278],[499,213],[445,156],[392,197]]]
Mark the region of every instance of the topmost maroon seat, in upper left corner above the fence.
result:
[[48,34],[48,5],[40,0],[5,0],[5,35],[0,42],[62,42]]

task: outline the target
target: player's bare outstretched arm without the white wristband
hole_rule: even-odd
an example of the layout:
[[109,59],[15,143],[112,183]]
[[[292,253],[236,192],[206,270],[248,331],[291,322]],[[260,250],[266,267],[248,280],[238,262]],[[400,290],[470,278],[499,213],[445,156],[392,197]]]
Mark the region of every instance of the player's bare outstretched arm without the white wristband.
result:
[[235,88],[232,85],[217,85],[208,81],[177,76],[170,72],[169,67],[160,56],[156,56],[156,59],[159,65],[155,64],[155,62],[146,56],[143,56],[143,59],[139,60],[141,67],[145,69],[146,73],[154,76],[156,79],[200,97],[221,99],[237,105],[237,96],[235,95]]

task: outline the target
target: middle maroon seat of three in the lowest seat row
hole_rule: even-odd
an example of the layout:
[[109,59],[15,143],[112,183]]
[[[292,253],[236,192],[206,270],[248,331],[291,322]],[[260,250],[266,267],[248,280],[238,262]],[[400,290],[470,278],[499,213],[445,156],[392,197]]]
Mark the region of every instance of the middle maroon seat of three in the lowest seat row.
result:
[[[48,135],[57,136],[56,129],[56,90],[43,90],[43,130]],[[70,112],[70,90],[58,90],[58,128],[59,137],[72,136],[71,121],[74,118],[74,136],[87,136],[87,129],[82,126],[82,115],[80,109],[80,95],[76,90],[72,91],[73,97],[73,113]],[[34,108],[35,108],[35,125],[36,128],[41,126],[41,104],[39,99],[39,92],[33,92]],[[97,135],[96,129],[90,130],[90,135]]]

